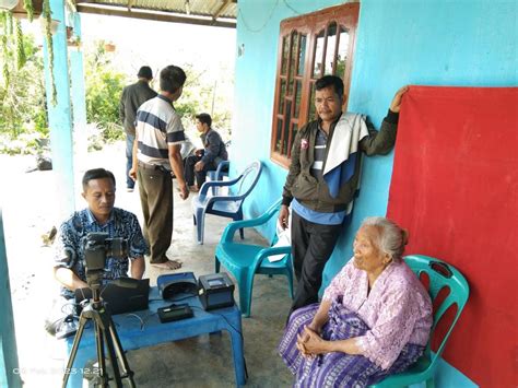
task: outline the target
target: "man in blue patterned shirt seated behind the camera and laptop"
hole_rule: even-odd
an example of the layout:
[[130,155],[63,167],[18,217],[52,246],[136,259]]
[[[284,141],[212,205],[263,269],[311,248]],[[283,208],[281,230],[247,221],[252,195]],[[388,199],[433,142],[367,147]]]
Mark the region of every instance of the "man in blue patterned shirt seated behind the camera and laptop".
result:
[[[83,176],[83,198],[89,207],[74,212],[64,221],[56,238],[54,275],[61,284],[61,297],[55,302],[52,313],[47,318],[46,327],[50,333],[55,326],[72,313],[76,289],[87,287],[83,238],[91,232],[107,233],[108,238],[120,237],[128,240],[128,257],[107,257],[103,278],[115,280],[128,277],[131,262],[131,278],[142,279],[145,269],[144,255],[148,246],[139,221],[133,213],[114,208],[115,177],[104,168],[90,169]],[[67,307],[64,307],[67,306]]]

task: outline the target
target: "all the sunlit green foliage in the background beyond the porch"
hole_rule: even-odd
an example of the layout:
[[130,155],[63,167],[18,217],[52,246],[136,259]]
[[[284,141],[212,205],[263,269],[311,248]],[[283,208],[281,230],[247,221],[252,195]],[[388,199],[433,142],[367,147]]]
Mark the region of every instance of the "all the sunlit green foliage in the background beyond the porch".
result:
[[[39,153],[38,139],[49,136],[42,51],[34,38],[22,34],[20,25],[2,12],[0,32],[0,152]],[[113,54],[106,52],[104,42],[97,42],[94,49],[84,54],[86,119],[91,127],[96,127],[90,143],[91,148],[99,149],[106,142],[123,139],[118,106],[123,86],[134,79],[125,77],[111,64]],[[222,108],[225,101],[216,93],[217,85],[203,81],[204,73],[195,71],[192,66],[185,70],[187,83],[181,98],[175,103],[184,126],[193,129],[195,116],[209,113],[214,127],[228,139],[231,111]]]

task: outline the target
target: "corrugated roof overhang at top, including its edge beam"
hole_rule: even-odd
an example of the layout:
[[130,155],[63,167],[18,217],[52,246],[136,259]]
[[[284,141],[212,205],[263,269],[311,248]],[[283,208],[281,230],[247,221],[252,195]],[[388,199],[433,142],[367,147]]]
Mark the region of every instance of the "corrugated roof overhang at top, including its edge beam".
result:
[[79,12],[235,27],[237,0],[73,0]]

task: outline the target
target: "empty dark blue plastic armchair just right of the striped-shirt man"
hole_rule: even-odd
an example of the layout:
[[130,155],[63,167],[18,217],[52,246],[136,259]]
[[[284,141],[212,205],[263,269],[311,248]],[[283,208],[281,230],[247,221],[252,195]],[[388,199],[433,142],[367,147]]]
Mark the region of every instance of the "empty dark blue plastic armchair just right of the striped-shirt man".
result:
[[[205,214],[226,216],[234,221],[243,220],[243,202],[256,187],[261,172],[262,164],[256,161],[235,179],[205,181],[201,186],[198,197],[192,200],[192,216],[197,226],[198,244],[203,244]],[[223,187],[227,187],[229,193],[221,193]],[[213,195],[213,188],[216,195]],[[240,236],[245,238],[243,230]]]

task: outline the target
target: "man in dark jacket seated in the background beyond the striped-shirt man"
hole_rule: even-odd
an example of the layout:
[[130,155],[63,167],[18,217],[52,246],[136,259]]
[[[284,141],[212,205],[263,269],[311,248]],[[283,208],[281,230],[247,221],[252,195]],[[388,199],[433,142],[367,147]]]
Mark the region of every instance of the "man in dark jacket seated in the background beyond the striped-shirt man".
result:
[[[197,150],[195,155],[188,156],[185,164],[187,185],[193,192],[198,191],[205,181],[207,172],[217,168],[222,161],[228,160],[226,146],[220,133],[211,128],[212,118],[208,114],[196,116],[196,128],[201,133],[204,150]],[[195,185],[196,176],[196,185]]]

